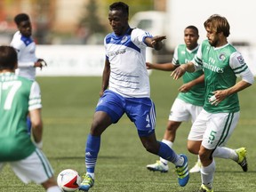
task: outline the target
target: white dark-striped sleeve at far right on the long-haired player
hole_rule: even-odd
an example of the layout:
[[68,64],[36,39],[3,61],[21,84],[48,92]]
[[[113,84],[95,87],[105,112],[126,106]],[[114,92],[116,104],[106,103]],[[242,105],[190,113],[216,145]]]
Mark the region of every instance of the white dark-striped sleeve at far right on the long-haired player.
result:
[[246,65],[240,52],[234,52],[230,55],[229,66],[233,69],[236,76],[241,76],[245,82],[253,84],[254,76],[252,71]]

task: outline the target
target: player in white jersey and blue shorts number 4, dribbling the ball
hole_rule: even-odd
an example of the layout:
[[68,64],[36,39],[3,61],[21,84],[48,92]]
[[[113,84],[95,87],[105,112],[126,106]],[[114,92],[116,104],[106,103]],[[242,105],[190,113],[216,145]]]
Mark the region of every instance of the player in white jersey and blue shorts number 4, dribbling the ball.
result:
[[110,124],[116,124],[124,113],[135,124],[140,141],[148,152],[171,161],[176,166],[180,186],[188,183],[188,158],[177,155],[164,142],[156,140],[155,105],[150,99],[146,68],[146,48],[160,50],[165,36],[151,36],[128,24],[129,6],[116,2],[109,6],[108,21],[113,33],[105,37],[105,67],[100,100],[93,116],[85,148],[86,174],[80,190],[94,184],[94,169],[100,151],[100,137]]

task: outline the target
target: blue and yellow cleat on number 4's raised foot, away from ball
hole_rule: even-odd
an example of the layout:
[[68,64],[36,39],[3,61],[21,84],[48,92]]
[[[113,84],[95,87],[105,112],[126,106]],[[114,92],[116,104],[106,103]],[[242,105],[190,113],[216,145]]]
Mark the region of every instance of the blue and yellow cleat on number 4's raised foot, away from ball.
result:
[[189,180],[188,157],[184,154],[180,154],[180,156],[184,158],[184,163],[181,166],[176,166],[176,172],[180,186],[184,187],[187,185]]

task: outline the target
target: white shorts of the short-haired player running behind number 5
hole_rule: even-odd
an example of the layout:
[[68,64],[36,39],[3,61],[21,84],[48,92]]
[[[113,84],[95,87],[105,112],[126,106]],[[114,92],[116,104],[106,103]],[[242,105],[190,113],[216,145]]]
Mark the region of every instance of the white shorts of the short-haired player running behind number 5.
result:
[[175,122],[184,122],[188,121],[191,117],[192,124],[196,120],[196,116],[199,115],[203,107],[192,105],[190,103],[185,102],[184,100],[175,99],[169,115],[170,121]]

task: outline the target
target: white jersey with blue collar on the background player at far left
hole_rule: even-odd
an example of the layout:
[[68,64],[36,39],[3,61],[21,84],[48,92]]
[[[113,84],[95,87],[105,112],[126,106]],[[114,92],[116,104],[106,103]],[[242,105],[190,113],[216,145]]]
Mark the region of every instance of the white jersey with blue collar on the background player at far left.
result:
[[18,68],[16,74],[35,80],[36,68],[34,67],[36,58],[36,44],[31,37],[22,36],[20,31],[17,31],[11,42],[11,46],[18,53]]

